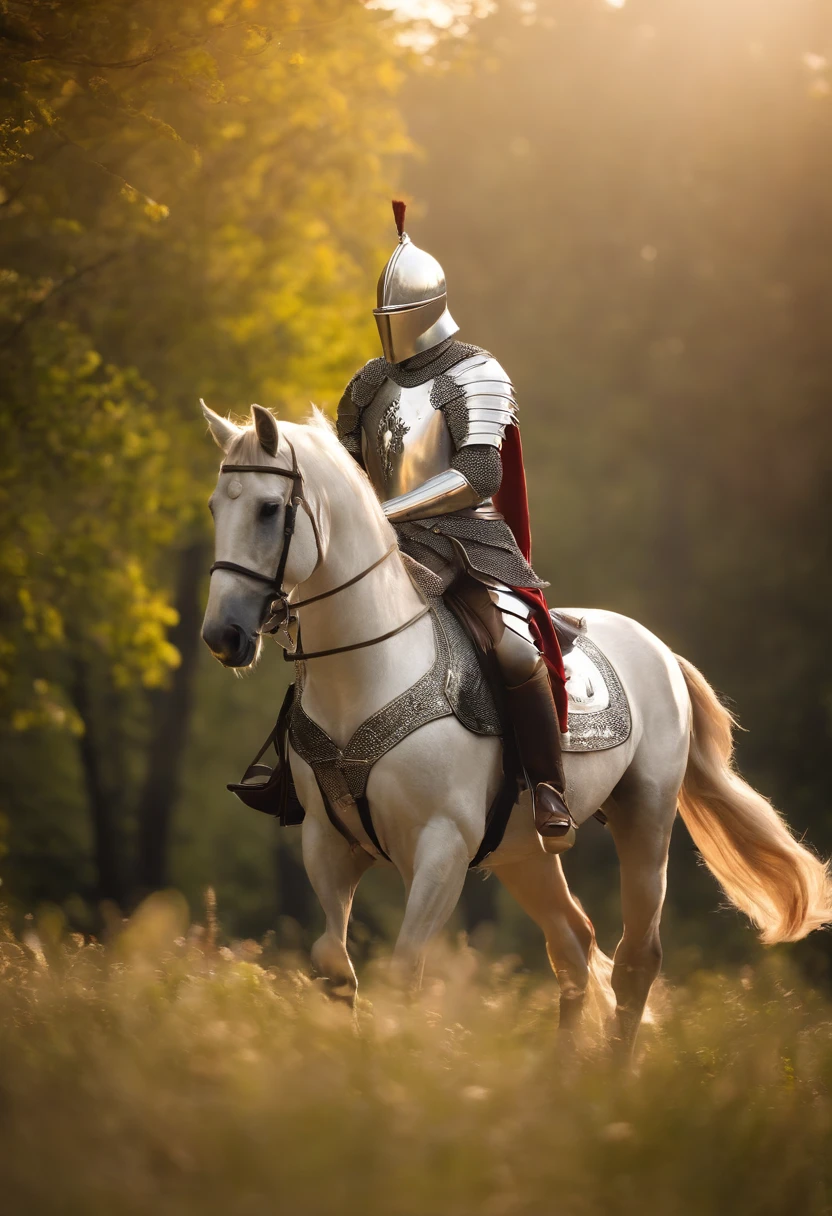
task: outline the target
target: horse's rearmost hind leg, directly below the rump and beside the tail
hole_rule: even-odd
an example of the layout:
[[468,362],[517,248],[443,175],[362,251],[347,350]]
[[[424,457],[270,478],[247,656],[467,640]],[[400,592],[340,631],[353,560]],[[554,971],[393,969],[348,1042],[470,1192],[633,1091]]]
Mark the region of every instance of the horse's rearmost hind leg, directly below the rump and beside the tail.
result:
[[[640,783],[641,784],[641,783]],[[667,891],[668,850],[678,790],[634,789],[617,796],[609,815],[622,883],[622,940],[615,947],[613,1047],[633,1054],[650,990],[662,967],[659,924]]]

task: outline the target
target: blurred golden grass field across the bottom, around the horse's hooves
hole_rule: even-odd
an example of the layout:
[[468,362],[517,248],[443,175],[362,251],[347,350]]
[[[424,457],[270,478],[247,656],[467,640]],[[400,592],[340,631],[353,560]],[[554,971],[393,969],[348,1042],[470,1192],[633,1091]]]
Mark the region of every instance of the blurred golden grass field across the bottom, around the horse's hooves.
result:
[[832,1010],[775,959],[665,990],[625,1073],[466,948],[354,1023],[182,916],[0,942],[4,1216],[832,1211]]

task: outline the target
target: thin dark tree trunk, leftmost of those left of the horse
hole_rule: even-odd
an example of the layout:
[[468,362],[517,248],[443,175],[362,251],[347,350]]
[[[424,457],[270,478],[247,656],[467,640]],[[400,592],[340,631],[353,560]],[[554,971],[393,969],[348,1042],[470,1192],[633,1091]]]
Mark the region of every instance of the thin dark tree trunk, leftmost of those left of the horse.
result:
[[94,726],[90,672],[83,659],[77,659],[73,664],[71,692],[78,716],[84,724],[78,750],[92,820],[97,896],[100,900],[112,900],[123,908],[127,891],[119,856],[117,810],[101,764],[101,749]]

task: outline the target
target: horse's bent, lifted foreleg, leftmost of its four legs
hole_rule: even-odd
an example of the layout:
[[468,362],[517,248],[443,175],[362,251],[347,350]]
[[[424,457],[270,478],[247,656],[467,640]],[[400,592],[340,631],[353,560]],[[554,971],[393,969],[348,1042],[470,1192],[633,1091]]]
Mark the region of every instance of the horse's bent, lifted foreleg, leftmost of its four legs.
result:
[[303,821],[303,863],[326,916],[326,929],[311,948],[313,966],[331,997],[355,1003],[358,980],[347,952],[347,925],[355,888],[372,865],[362,849],[350,849],[331,823],[307,815]]

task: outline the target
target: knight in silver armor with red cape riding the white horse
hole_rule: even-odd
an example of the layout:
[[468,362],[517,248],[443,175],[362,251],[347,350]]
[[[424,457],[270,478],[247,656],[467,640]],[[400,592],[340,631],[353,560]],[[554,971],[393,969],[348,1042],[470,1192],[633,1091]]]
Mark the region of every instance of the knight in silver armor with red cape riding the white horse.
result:
[[347,385],[342,444],[366,471],[401,550],[442,580],[445,598],[490,638],[544,848],[574,841],[561,727],[563,662],[530,565],[517,401],[487,350],[455,339],[445,275],[404,231],[378,280],[383,358]]

